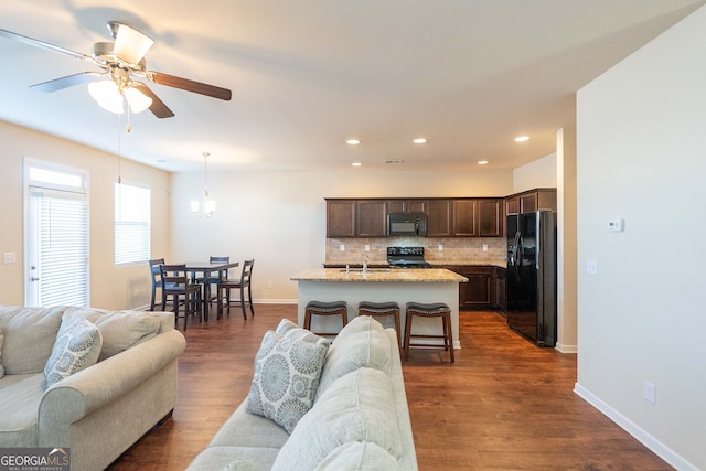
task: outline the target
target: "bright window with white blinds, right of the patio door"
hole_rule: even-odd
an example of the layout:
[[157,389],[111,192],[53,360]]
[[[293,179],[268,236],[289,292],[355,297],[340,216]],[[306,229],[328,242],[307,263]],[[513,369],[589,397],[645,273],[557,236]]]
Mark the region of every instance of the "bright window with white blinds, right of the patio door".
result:
[[150,258],[150,189],[115,184],[115,265]]

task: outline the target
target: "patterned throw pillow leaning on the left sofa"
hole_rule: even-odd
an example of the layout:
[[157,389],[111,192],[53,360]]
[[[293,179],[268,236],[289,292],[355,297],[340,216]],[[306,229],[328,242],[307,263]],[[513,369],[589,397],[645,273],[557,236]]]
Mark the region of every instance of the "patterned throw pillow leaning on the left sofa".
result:
[[100,331],[85,319],[62,327],[44,365],[46,387],[95,364],[101,345]]

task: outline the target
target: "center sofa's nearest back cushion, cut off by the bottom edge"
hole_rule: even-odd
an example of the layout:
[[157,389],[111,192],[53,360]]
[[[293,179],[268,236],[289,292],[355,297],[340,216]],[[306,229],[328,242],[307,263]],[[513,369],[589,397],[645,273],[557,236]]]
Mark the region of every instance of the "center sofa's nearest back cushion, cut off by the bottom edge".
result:
[[378,445],[370,441],[349,441],[329,453],[317,471],[396,471],[399,461]]

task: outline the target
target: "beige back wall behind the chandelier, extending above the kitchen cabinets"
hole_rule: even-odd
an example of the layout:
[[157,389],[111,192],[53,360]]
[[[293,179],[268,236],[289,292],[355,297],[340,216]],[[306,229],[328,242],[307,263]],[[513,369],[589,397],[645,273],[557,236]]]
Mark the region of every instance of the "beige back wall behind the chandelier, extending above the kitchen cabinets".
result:
[[297,299],[289,278],[325,260],[324,197],[499,196],[512,192],[512,172],[367,172],[345,168],[329,172],[214,173],[212,218],[190,213],[201,194],[202,173],[173,180],[173,253],[185,259],[228,255],[255,258],[253,296],[259,300]]

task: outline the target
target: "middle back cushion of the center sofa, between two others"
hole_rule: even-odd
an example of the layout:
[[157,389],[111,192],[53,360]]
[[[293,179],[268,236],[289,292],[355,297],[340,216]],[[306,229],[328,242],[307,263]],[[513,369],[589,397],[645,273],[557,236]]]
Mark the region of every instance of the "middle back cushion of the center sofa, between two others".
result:
[[362,367],[327,389],[282,446],[272,470],[314,470],[340,446],[373,442],[402,457],[394,386],[383,372]]

